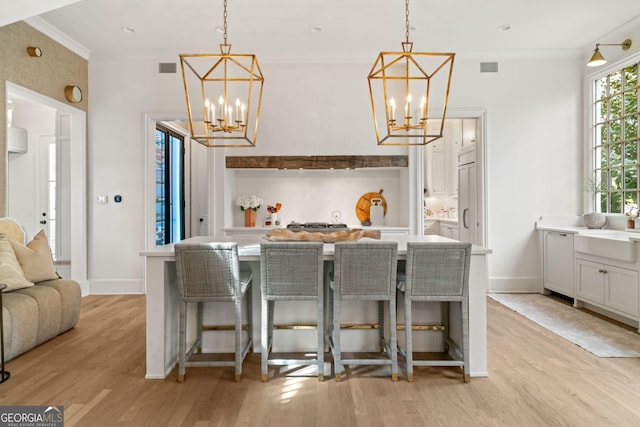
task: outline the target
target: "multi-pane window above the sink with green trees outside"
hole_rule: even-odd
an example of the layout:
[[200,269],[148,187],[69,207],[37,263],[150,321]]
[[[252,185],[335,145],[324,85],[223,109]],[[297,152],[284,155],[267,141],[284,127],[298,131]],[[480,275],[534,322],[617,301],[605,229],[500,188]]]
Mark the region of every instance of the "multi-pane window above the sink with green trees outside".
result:
[[591,177],[595,211],[638,204],[638,62],[593,83]]

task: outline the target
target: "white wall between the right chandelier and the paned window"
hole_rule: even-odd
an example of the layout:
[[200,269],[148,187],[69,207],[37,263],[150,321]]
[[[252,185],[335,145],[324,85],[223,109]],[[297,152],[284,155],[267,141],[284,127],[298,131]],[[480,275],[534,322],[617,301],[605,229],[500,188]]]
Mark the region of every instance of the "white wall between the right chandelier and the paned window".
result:
[[502,58],[495,74],[460,62],[451,104],[487,110],[490,289],[539,290],[535,221],[580,213],[581,60]]

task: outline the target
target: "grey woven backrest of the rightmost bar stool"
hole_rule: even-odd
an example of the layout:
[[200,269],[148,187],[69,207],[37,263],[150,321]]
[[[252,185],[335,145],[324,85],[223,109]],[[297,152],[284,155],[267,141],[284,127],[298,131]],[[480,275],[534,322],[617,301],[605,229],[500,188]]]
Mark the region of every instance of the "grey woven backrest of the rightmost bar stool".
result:
[[409,242],[406,287],[411,296],[465,296],[471,243]]

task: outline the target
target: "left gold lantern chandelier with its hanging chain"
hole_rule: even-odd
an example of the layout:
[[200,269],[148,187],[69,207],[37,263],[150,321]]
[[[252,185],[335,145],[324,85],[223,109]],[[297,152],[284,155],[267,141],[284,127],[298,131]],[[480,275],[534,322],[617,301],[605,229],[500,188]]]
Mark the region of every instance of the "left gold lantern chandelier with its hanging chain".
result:
[[264,77],[253,54],[180,54],[191,139],[207,147],[255,147]]

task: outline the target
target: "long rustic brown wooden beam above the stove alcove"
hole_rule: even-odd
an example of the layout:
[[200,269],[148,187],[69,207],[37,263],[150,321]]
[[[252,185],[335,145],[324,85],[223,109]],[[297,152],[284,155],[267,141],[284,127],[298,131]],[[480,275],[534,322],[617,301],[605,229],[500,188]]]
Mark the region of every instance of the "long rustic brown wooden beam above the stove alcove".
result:
[[406,168],[408,156],[227,156],[230,169]]

